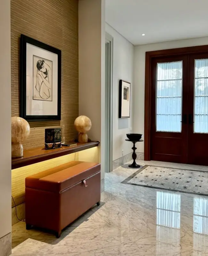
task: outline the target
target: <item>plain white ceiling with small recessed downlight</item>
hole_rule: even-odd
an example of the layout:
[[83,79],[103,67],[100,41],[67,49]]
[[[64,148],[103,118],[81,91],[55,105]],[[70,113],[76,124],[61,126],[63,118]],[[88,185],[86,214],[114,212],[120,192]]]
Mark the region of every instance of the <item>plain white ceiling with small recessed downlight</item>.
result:
[[208,0],[106,0],[106,22],[134,45],[205,37]]

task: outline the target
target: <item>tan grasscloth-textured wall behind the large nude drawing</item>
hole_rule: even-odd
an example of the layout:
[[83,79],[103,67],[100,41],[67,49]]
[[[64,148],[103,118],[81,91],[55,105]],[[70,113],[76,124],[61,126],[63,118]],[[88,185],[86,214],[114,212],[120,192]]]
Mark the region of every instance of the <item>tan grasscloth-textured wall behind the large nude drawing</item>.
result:
[[46,127],[65,125],[65,139],[77,136],[78,0],[11,0],[12,116],[20,115],[20,34],[59,48],[61,61],[61,121],[30,122],[24,148],[44,145]]

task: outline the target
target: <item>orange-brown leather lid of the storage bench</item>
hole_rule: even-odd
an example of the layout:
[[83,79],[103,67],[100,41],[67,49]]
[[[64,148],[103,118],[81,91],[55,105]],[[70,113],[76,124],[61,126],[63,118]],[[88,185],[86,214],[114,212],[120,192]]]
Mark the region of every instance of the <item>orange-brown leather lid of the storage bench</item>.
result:
[[100,164],[71,161],[25,179],[25,186],[38,190],[61,192],[100,171]]

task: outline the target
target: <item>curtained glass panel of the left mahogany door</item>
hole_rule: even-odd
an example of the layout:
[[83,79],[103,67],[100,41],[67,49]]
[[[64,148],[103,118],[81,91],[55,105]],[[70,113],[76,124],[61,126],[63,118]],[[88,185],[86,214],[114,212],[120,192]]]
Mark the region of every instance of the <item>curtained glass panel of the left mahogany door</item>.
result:
[[181,132],[182,61],[157,63],[156,131]]

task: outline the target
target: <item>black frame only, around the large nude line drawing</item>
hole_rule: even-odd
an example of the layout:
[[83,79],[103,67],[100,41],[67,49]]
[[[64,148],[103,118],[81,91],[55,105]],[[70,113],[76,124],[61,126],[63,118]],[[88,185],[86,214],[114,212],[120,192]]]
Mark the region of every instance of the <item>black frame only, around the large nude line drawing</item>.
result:
[[[31,44],[58,55],[57,115],[26,115],[27,44]],[[61,50],[23,34],[20,36],[20,117],[30,122],[61,120]]]

